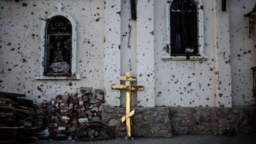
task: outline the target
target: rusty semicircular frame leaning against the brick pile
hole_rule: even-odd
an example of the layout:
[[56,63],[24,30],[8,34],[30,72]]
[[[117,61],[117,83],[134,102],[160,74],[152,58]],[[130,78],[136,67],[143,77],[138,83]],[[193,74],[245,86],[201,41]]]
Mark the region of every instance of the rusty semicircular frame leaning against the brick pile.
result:
[[[106,130],[109,131],[110,136],[103,136],[103,137],[88,137],[88,138],[80,138],[82,132],[86,130],[87,128],[93,127],[93,126],[100,126]],[[114,139],[114,132],[111,130],[110,126],[102,121],[93,120],[84,123],[77,131],[76,133],[76,141],[96,141],[96,140],[110,140]]]

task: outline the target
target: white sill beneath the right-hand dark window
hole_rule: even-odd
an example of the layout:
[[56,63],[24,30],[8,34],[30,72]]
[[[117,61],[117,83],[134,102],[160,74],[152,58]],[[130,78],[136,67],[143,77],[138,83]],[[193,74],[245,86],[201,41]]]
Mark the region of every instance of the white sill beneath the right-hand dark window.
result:
[[162,56],[162,60],[207,60],[207,59],[208,59],[208,56]]

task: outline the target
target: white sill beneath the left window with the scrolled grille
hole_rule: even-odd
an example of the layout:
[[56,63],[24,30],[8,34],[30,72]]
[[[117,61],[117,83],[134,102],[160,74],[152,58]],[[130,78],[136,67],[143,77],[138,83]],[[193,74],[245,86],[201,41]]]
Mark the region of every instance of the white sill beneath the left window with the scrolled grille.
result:
[[71,76],[43,76],[41,74],[36,74],[36,80],[80,80],[80,74],[72,74]]

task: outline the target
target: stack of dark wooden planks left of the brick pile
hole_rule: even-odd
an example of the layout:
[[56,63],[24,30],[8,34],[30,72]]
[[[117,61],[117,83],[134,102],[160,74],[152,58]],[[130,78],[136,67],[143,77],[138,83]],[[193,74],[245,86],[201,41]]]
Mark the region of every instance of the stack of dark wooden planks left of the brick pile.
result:
[[37,119],[33,101],[26,94],[0,92],[0,143],[20,143],[38,140]]

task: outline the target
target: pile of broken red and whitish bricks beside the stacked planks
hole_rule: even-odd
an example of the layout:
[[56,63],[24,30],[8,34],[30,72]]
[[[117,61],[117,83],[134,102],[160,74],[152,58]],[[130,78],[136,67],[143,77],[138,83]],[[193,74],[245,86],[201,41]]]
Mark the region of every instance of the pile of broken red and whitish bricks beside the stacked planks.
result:
[[[78,128],[92,120],[101,118],[104,102],[103,90],[81,87],[80,92],[67,95],[57,95],[50,102],[44,101],[37,106],[36,115],[41,120],[39,126],[48,127],[49,138],[56,140],[74,139]],[[82,133],[86,137],[95,137],[99,128],[87,129]]]

